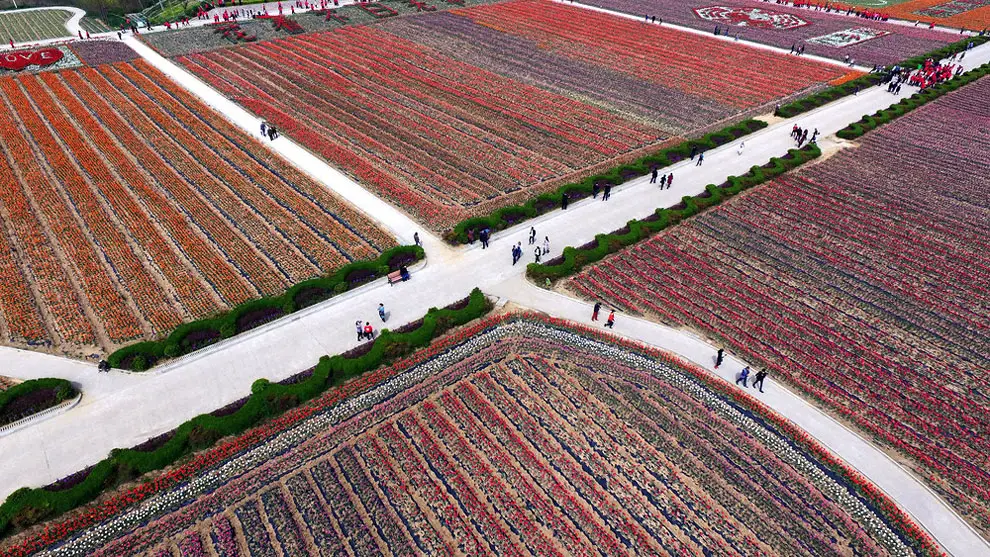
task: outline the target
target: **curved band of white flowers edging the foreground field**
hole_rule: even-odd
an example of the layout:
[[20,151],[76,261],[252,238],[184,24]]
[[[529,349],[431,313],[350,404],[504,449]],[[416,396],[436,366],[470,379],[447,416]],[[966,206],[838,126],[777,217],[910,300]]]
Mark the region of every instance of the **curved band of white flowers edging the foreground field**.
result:
[[790,442],[775,432],[746,416],[725,399],[705,388],[696,379],[688,377],[672,367],[630,352],[616,345],[588,338],[580,333],[562,330],[552,325],[520,319],[496,325],[493,329],[475,335],[461,344],[434,356],[431,360],[402,372],[383,384],[365,393],[351,397],[321,414],[304,419],[290,429],[275,435],[263,444],[248,449],[240,455],[216,467],[200,473],[188,483],[181,484],[158,495],[154,495],[138,507],[103,523],[87,528],[61,545],[43,551],[39,555],[69,557],[87,555],[108,542],[141,527],[155,517],[179,510],[200,495],[212,492],[220,485],[246,472],[254,470],[286,452],[287,450],[312,439],[334,424],[384,402],[395,394],[423,382],[430,376],[443,371],[500,340],[509,337],[546,339],[571,344],[593,351],[606,359],[624,362],[635,368],[645,369],[663,377],[680,387],[723,418],[736,423],[764,443],[781,460],[793,466],[811,480],[829,499],[842,505],[871,535],[875,541],[887,548],[892,555],[911,556],[914,552],[885,524],[882,518],[864,504],[851,490],[832,479],[822,464],[813,462],[798,452]]

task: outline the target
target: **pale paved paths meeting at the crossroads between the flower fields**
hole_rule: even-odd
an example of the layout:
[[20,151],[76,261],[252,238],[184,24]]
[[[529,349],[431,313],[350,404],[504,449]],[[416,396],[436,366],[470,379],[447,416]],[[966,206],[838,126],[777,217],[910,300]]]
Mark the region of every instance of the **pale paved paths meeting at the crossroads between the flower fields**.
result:
[[[235,124],[258,133],[257,118],[143,44],[132,38],[126,40],[150,63]],[[972,67],[987,60],[990,60],[990,45],[970,51],[965,62],[967,67]],[[430,307],[460,299],[472,287],[479,286],[524,306],[583,320],[589,312],[586,304],[548,293],[525,281],[523,273],[525,263],[531,261],[530,251],[524,250],[526,255],[521,264],[511,265],[510,247],[520,241],[525,245],[530,226],[536,227],[539,238],[549,236],[553,243],[550,257],[553,257],[565,245],[583,244],[598,232],[618,229],[631,218],[644,217],[656,207],[676,204],[681,196],[699,193],[709,183],[720,183],[728,175],[744,173],[754,164],[781,155],[793,147],[789,132],[795,123],[817,127],[828,137],[863,114],[889,106],[899,98],[875,87],[780,121],[745,138],[747,145],[742,155],[737,154],[735,144],[730,144],[709,151],[702,167],[686,161],[667,169],[675,176],[677,185],[673,189],[660,191],[648,183],[647,177],[635,179],[614,188],[608,202],[584,200],[572,204],[567,211],[554,211],[500,232],[488,250],[481,250],[478,245],[461,249],[446,246],[435,235],[420,230],[405,214],[301,146],[288,138],[279,138],[271,143],[273,150],[348,198],[403,241],[410,241],[412,233],[418,230],[429,255],[426,265],[414,268],[408,283],[394,287],[381,281],[374,283],[151,372],[97,374],[92,367],[90,375],[76,375],[84,392],[93,389],[101,396],[92,397],[66,414],[0,438],[0,454],[4,455],[0,498],[25,485],[50,483],[97,462],[112,448],[136,445],[197,414],[246,396],[255,379],[266,377],[277,381],[312,366],[323,354],[352,348],[357,344],[352,336],[355,320],[381,325],[376,313],[379,302],[390,311],[388,325],[399,325],[418,319]],[[823,140],[821,145],[826,150],[841,148],[841,144],[828,140]],[[705,367],[711,366],[715,353],[713,347],[693,335],[638,319],[620,316],[615,333],[670,350]],[[742,365],[735,360],[730,363],[736,367],[726,366],[726,370]],[[881,450],[785,389],[771,386],[761,398],[884,489],[950,553],[990,555],[990,545],[985,540]]]

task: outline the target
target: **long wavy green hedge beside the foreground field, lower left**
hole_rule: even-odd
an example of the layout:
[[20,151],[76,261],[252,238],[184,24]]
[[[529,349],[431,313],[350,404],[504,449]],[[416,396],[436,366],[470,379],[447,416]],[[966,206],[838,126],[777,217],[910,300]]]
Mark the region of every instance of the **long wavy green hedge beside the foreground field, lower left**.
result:
[[406,333],[383,329],[371,350],[362,356],[323,356],[313,375],[299,383],[282,385],[259,379],[251,385],[251,395],[237,411],[226,416],[202,414],[182,425],[167,442],[151,451],[114,449],[110,456],[94,466],[80,483],[62,491],[45,488],[21,488],[0,505],[0,536],[12,527],[25,528],[86,504],[104,489],[142,474],[161,470],[218,439],[235,435],[289,408],[310,400],[333,385],[371,371],[427,346],[434,338],[452,327],[463,325],[491,311],[491,303],[475,288],[467,304],[460,309],[430,308],[422,324]]

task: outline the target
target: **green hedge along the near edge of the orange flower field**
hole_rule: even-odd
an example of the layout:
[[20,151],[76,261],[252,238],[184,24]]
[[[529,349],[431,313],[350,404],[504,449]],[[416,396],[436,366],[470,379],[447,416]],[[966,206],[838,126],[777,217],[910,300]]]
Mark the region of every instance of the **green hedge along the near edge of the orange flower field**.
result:
[[335,273],[300,282],[280,296],[249,300],[214,317],[183,323],[161,340],[138,342],[120,348],[107,357],[111,366],[131,371],[145,371],[166,358],[177,358],[249,331],[311,306],[337,294],[382,278],[400,265],[426,257],[419,246],[398,246],[383,252],[378,259],[355,261]]

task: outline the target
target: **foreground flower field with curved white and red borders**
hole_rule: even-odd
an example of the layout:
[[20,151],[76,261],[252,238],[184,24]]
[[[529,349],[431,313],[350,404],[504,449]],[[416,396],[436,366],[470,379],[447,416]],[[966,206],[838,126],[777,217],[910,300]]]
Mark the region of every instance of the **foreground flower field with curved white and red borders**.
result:
[[938,554],[855,472],[703,370],[598,331],[509,315],[0,550],[793,555],[836,547]]

